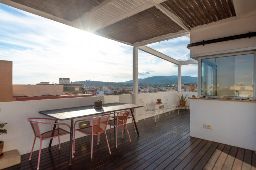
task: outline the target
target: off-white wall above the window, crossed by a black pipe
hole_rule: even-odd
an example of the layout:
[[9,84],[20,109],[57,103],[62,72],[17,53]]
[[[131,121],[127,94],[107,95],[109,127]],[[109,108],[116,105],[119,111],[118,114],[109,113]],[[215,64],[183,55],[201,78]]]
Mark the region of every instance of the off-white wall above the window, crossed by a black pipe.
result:
[[[201,42],[203,40],[211,40],[256,32],[256,16],[251,16],[239,20],[227,19],[222,24],[209,24],[203,28],[195,28],[190,32],[190,42]],[[190,55],[198,55],[203,53],[211,53],[225,50],[233,50],[240,48],[256,47],[256,37],[230,40],[206,45],[200,45],[190,48]]]

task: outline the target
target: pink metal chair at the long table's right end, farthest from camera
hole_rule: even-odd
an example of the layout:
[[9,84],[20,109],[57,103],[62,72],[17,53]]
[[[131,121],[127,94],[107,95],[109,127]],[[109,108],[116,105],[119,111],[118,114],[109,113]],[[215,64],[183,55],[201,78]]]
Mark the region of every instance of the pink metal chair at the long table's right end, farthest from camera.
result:
[[[123,138],[123,126],[126,127],[126,130],[127,130],[127,134],[128,134],[128,137],[129,137],[129,140],[131,142],[131,138],[130,138],[130,135],[129,135],[129,131],[128,131],[128,128],[127,128],[127,119],[128,119],[128,116],[130,114],[130,111],[120,111],[120,112],[116,112],[116,113],[111,113],[111,114],[117,114],[116,118],[112,119],[112,120],[109,120],[109,123],[108,125],[110,126],[110,132],[111,132],[111,126],[114,126],[116,127],[116,148],[117,148],[117,132],[118,132],[118,127],[119,126],[122,126],[122,138]],[[110,114],[110,116],[111,116]]]

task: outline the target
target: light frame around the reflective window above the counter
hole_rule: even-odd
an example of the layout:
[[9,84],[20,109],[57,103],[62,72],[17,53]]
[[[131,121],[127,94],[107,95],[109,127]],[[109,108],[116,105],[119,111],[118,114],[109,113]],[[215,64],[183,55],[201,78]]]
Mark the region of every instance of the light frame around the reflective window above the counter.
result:
[[[207,98],[220,98],[221,96],[213,96],[213,95],[201,95],[201,84],[202,84],[202,59],[210,59],[210,58],[220,58],[220,57],[228,57],[228,56],[235,56],[235,55],[245,55],[245,54],[254,54],[254,99],[256,98],[256,51],[247,51],[247,52],[234,52],[228,54],[216,54],[216,55],[208,55],[202,56],[198,58],[198,88],[197,94],[198,96],[207,97]],[[206,65],[207,66],[207,65]],[[232,99],[249,99],[249,97],[235,97],[235,96],[228,96]]]

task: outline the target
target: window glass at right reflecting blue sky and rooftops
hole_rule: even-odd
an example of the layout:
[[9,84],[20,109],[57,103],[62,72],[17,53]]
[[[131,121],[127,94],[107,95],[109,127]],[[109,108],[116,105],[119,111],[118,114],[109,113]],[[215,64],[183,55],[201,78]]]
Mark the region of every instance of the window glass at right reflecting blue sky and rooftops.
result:
[[211,84],[209,76],[214,75],[211,70],[207,70],[208,90],[212,90],[210,86],[216,85],[218,96],[233,96],[234,91],[240,91],[240,96],[253,96],[254,54],[202,59],[203,62],[207,63],[207,69],[210,68],[209,65],[217,69],[217,80]]

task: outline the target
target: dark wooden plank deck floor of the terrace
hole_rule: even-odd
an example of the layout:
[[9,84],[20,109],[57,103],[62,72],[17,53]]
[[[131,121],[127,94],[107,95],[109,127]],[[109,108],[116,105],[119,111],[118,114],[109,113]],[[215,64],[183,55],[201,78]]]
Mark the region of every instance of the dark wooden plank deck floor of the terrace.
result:
[[[207,140],[190,137],[190,112],[181,110],[180,115],[171,114],[154,123],[153,117],[138,122],[140,136],[134,133],[132,124],[124,138],[108,131],[112,154],[109,155],[104,135],[100,144],[93,147],[93,161],[90,161],[91,137],[76,140],[75,157],[68,166],[68,142],[51,149],[43,149],[40,169],[256,169],[254,151],[232,147]],[[121,130],[118,130],[121,132]],[[31,141],[32,144],[33,141]],[[47,141],[44,141],[47,142]],[[7,169],[36,169],[38,151],[21,156],[21,164]]]

